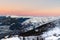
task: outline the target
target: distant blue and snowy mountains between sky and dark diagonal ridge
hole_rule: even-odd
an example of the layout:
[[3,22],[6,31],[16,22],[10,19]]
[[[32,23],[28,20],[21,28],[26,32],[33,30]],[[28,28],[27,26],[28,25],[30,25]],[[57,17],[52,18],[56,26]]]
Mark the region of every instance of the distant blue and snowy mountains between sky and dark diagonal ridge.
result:
[[20,35],[58,19],[60,17],[0,16],[0,39]]

